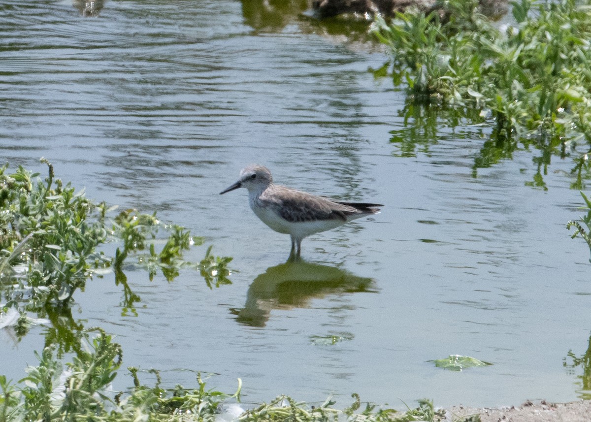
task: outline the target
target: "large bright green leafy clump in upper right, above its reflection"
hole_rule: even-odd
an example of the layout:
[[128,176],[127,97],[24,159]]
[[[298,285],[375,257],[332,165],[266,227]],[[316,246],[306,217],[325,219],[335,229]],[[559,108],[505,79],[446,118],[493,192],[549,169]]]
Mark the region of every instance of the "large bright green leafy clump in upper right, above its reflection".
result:
[[389,24],[377,17],[394,82],[407,83],[413,102],[492,115],[504,137],[591,143],[591,8],[511,4],[516,24],[504,31],[475,13],[475,0],[446,1],[445,23],[437,14],[397,14]]

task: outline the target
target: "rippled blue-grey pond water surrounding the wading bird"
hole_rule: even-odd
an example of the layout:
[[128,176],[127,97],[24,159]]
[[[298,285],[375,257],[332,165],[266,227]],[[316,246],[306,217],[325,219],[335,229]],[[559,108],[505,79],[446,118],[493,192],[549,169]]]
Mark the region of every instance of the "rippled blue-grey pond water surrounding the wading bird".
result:
[[[2,161],[45,172],[46,157],[90,197],[206,236],[239,271],[213,290],[190,271],[173,283],[130,272],[137,316],[121,316],[112,277],[95,280],[74,317],[115,335],[124,367],[158,368],[171,387],[213,372],[209,387],[228,392],[240,377],[246,402],[580,397],[580,368],[563,368],[591,329],[589,250],[565,229],[582,213],[571,160],[552,158],[545,189],[529,186],[535,149],[475,171],[488,128],[413,128],[403,93],[368,72],[386,60],[379,47],[301,9],[109,1],[85,18],[67,1],[0,5]],[[390,142],[413,137],[412,154]],[[246,191],[218,195],[249,163],[385,206],[306,239],[307,264],[286,268],[288,237],[256,219]],[[0,373],[24,376],[39,334],[0,342]],[[350,340],[310,342],[327,335]],[[456,353],[493,366],[427,362]],[[131,385],[124,370],[116,382]]]

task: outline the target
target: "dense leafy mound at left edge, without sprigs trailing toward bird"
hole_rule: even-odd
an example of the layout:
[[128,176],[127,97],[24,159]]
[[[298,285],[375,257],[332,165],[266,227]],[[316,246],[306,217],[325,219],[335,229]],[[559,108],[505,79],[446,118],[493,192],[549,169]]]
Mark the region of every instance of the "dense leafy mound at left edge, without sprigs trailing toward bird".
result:
[[105,204],[54,180],[48,167],[48,178],[37,182],[21,166],[14,174],[0,168],[2,281],[39,306],[67,303],[95,268],[109,265],[98,249],[109,237]]

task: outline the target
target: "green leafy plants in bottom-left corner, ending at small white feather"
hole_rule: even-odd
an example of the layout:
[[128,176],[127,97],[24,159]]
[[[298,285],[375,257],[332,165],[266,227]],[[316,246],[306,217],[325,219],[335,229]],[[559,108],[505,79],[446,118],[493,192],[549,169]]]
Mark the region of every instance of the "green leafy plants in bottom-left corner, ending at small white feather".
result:
[[[90,334],[97,332],[92,339]],[[121,346],[102,329],[83,333],[85,350],[63,365],[52,347],[35,353],[37,366],[28,366],[18,384],[0,376],[0,421],[215,421],[222,402],[239,400],[241,381],[234,394],[206,389],[201,375],[198,387],[142,385],[137,368],[128,368],[134,387],[115,394],[112,382],[122,362]]]

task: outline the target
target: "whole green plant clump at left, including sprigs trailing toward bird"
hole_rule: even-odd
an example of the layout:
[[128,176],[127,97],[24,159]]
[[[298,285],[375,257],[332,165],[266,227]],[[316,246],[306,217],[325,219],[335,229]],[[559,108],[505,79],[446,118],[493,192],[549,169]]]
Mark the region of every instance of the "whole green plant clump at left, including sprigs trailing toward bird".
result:
[[[161,222],[155,213],[124,210],[112,216],[116,207],[90,200],[84,190],[56,178],[47,160],[41,161],[48,166],[44,180],[21,166],[12,174],[8,164],[0,167],[0,298],[5,310],[37,313],[50,320],[51,339],[75,340],[82,326],[69,307],[76,290],[93,278],[115,274],[115,283],[124,288],[124,313],[135,313],[139,301],[127,283],[124,271],[129,268],[147,270],[150,280],[161,272],[168,281],[182,268],[192,268],[209,287],[212,281],[216,286],[230,283],[231,258],[213,257],[211,247],[200,262],[184,259],[183,253],[203,244],[202,238]],[[118,244],[115,257],[105,254],[109,242]],[[27,332],[26,324],[13,325],[17,337]]]

